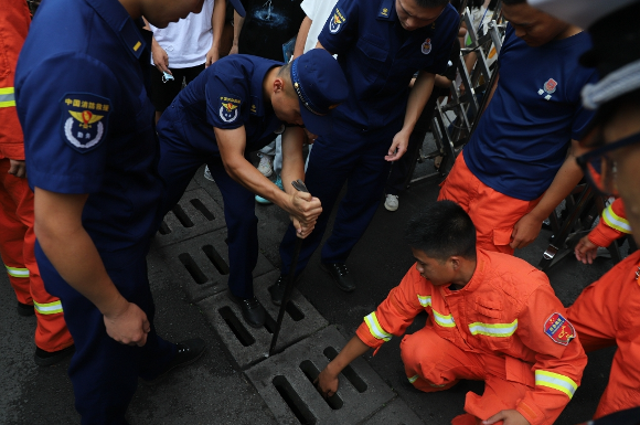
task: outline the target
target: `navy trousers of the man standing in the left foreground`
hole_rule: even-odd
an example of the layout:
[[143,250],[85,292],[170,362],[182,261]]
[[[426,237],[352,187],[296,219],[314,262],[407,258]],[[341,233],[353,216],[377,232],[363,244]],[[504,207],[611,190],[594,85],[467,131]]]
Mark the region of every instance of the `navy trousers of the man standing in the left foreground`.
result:
[[118,258],[103,258],[107,274],[129,301],[142,309],[151,323],[143,347],[116,342],[107,334],[104,316],[55,270],[40,244],[35,258],[46,290],[58,297],[64,320],[75,342],[68,368],[75,407],[83,424],[127,424],[125,413],[138,386],[138,376],[153,380],[175,357],[175,344],[156,333],[156,307],[147,277],[148,249],[131,249]]

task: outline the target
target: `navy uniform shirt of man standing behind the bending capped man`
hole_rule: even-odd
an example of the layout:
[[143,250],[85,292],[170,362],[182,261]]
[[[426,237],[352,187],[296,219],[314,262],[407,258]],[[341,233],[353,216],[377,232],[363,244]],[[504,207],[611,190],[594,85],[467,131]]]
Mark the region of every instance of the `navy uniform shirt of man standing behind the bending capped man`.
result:
[[459,24],[451,4],[433,24],[406,31],[395,0],[339,0],[318,36],[338,54],[351,89],[334,118],[367,130],[402,120],[413,75],[446,70]]

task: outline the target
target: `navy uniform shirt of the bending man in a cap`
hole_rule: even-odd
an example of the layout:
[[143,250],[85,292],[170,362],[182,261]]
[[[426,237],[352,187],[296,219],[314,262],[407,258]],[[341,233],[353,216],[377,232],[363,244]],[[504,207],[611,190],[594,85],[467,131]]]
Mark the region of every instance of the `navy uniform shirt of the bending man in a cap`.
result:
[[171,120],[182,123],[182,141],[204,155],[220,156],[213,127],[244,126],[246,151],[258,150],[285,127],[263,95],[263,81],[281,62],[250,55],[231,55],[204,70],[173,100],[160,121],[162,134]]

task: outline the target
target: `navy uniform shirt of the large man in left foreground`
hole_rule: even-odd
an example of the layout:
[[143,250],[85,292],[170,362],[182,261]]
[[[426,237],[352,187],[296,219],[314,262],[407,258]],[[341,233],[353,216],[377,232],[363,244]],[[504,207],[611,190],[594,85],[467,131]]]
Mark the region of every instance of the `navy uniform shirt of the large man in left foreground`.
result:
[[141,23],[117,0],[45,1],[15,74],[29,183],[89,194],[83,225],[103,259],[148,244],[163,193]]

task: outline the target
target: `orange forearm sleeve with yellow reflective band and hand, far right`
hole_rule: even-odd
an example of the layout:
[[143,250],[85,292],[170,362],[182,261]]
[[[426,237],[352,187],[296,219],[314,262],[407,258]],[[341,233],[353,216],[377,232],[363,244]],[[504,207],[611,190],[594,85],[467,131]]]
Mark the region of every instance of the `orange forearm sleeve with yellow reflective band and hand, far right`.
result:
[[625,203],[618,198],[602,211],[598,225],[578,242],[575,248],[576,258],[584,264],[593,264],[598,247],[606,248],[617,238],[630,233],[631,225],[625,214]]

